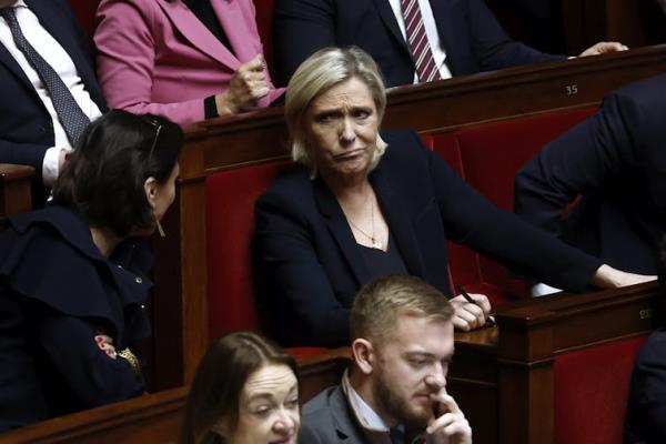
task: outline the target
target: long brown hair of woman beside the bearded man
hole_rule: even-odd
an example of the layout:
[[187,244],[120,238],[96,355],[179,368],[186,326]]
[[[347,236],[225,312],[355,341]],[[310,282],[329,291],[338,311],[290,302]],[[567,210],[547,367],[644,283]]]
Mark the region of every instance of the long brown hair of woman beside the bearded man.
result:
[[286,365],[299,379],[295,360],[255,333],[231,333],[211,345],[199,363],[190,389],[181,444],[214,442],[216,434],[212,428],[221,420],[233,430],[239,421],[243,386],[248,377],[265,364]]

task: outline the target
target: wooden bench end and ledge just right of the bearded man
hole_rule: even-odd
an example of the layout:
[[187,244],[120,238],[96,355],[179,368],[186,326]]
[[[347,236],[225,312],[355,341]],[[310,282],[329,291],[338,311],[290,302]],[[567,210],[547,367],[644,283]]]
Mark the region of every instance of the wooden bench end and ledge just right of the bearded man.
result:
[[447,387],[474,442],[553,443],[555,359],[647,334],[658,303],[656,283],[563,293],[498,307],[497,326],[457,333]]

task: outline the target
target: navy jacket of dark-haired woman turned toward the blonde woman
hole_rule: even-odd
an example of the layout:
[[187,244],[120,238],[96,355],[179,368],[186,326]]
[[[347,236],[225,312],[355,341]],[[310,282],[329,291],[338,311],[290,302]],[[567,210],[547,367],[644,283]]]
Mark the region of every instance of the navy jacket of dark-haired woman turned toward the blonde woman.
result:
[[149,335],[152,284],[104,258],[88,224],[51,206],[0,235],[0,430],[127,400],[143,380],[117,351]]

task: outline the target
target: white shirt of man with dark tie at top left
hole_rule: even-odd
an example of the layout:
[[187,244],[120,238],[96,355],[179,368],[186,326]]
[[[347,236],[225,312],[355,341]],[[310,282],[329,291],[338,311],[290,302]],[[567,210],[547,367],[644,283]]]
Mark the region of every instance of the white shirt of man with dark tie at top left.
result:
[[[17,20],[19,21],[21,31],[23,32],[23,36],[26,36],[26,39],[51,65],[51,68],[53,68],[58,75],[60,75],[79,107],[81,107],[81,110],[83,110],[83,113],[88,115],[91,121],[99,118],[102,113],[94,101],[90,98],[90,93],[85,90],[83,80],[79,77],[77,67],[67,51],[41,26],[37,16],[28,8],[23,0],[18,0],[13,7],[16,8]],[[72,145],[67,137],[67,133],[64,132],[64,128],[62,127],[60,119],[58,118],[56,108],[53,108],[53,101],[49,95],[49,91],[39,78],[34,68],[32,68],[28,59],[26,59],[23,52],[17,47],[11,34],[11,30],[2,18],[0,18],[0,43],[4,46],[9,53],[14,58],[17,63],[21,67],[26,73],[26,77],[30,80],[30,83],[32,83],[32,87],[39,94],[39,98],[44,103],[44,107],[49,111],[51,120],[53,121],[53,133],[56,137],[54,143],[53,147],[47,150],[42,163],[42,176],[44,180],[44,185],[52,186],[58,178],[58,161],[60,151],[70,151]]]

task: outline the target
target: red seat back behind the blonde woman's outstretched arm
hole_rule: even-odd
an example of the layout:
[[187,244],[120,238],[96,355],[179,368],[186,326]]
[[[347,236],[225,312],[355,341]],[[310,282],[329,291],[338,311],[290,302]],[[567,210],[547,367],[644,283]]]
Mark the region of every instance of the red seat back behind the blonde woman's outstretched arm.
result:
[[[561,111],[435,134],[434,150],[492,203],[513,211],[518,169],[543,145],[593,112]],[[485,293],[494,305],[527,296],[524,281],[490,259],[452,243],[448,253],[454,284]]]

